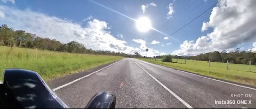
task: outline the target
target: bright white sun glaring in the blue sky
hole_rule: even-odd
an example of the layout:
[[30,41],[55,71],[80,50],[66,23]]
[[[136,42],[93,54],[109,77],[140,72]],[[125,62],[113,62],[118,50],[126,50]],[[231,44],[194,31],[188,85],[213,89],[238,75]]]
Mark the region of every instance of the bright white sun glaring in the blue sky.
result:
[[146,32],[151,28],[151,22],[147,17],[141,17],[136,21],[136,27],[141,32]]

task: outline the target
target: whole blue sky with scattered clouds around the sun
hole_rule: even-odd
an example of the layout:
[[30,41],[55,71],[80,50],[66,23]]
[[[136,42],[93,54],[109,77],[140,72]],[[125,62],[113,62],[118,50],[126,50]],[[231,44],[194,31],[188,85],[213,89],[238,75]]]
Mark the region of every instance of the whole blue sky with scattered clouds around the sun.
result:
[[[154,30],[147,32],[140,32],[136,28],[136,22],[126,18],[125,16],[106,9],[91,1],[71,1],[71,0],[55,0],[55,1],[14,1],[2,0],[0,2],[0,22],[6,23],[9,27],[14,29],[22,29],[31,33],[35,33],[41,37],[49,37],[60,40],[62,43],[75,40],[85,45],[86,48],[95,50],[108,50],[115,52],[124,52],[133,54],[139,51],[141,47],[141,54],[145,55],[145,49],[150,48],[149,56],[160,54],[173,54],[173,55],[197,55],[199,53],[213,52],[213,51],[232,51],[239,47],[241,50],[247,51],[253,49],[255,40],[255,33],[253,32],[255,21],[245,19],[248,22],[235,24],[241,18],[243,13],[239,10],[233,10],[232,7],[238,8],[238,1],[225,1],[222,0],[214,8],[210,9],[198,19],[190,23],[185,28],[181,29],[172,36],[168,36],[174,31],[185,26],[188,22],[196,18],[199,14],[209,9],[213,4],[218,1],[210,0],[179,0],[179,1],[94,1],[101,5],[107,6],[119,13],[129,16],[132,19],[139,19],[146,16],[151,21],[153,28],[165,33],[159,33]],[[248,1],[246,1],[248,2]],[[253,2],[253,1],[251,1]],[[155,5],[150,5],[154,3]],[[234,5],[236,4],[237,5]],[[171,4],[171,5],[170,5]],[[225,5],[224,5],[225,4]],[[141,6],[146,5],[146,11],[143,13]],[[169,5],[172,8],[169,8]],[[246,4],[245,4],[246,5]],[[247,4],[250,5],[250,4]],[[247,9],[245,13],[252,12],[250,8],[253,6],[245,6]],[[172,10],[173,13],[167,15]],[[222,10],[222,11],[221,11]],[[241,7],[242,10],[242,7]],[[220,14],[212,14],[219,12]],[[222,13],[221,13],[222,12]],[[2,13],[2,17],[1,17]],[[238,16],[236,14],[238,14]],[[18,16],[18,15],[20,16]],[[26,16],[26,15],[30,16]],[[212,15],[211,15],[212,14]],[[230,14],[229,16],[225,16]],[[239,15],[241,14],[241,15]],[[236,15],[236,16],[235,16]],[[212,19],[210,18],[220,18]],[[224,17],[225,16],[225,17]],[[20,18],[19,18],[20,17]],[[23,18],[22,18],[23,17]],[[27,18],[29,17],[29,18]],[[31,17],[31,18],[30,18]],[[253,19],[252,15],[249,18]],[[228,19],[235,20],[228,20]],[[27,20],[30,20],[27,21]],[[38,20],[40,20],[38,22]],[[49,24],[47,24],[47,20]],[[229,21],[223,22],[223,21]],[[34,21],[34,22],[33,22]],[[17,23],[18,22],[18,23]],[[41,24],[41,23],[42,24]],[[46,26],[43,26],[45,25]],[[64,22],[64,23],[63,23]],[[203,23],[207,25],[202,31]],[[33,23],[33,24],[31,24]],[[58,23],[58,24],[56,24]],[[62,24],[63,23],[63,24]],[[227,24],[226,24],[227,23]],[[234,29],[241,29],[242,32],[248,35],[242,35],[237,32],[235,35],[234,29],[221,31],[221,28],[228,28],[235,24]],[[67,26],[66,28],[58,26]],[[218,26],[217,26],[218,25]],[[226,25],[226,26],[225,26]],[[242,30],[244,25],[250,30]],[[40,27],[41,26],[41,27]],[[70,27],[69,27],[70,26]],[[96,26],[96,28],[94,28]],[[97,27],[98,26],[98,27]],[[233,26],[233,25],[232,25]],[[49,30],[43,30],[47,27],[55,27]],[[76,29],[79,30],[76,30]],[[42,29],[42,30],[41,30]],[[54,30],[53,32],[51,30]],[[61,31],[66,31],[66,33]],[[69,30],[72,30],[70,33]],[[74,30],[74,31],[73,31]],[[215,31],[214,31],[215,30]],[[218,31],[217,31],[218,30]],[[57,32],[56,32],[57,31]],[[60,31],[60,32],[58,32]],[[99,31],[89,33],[88,31]],[[239,30],[238,30],[239,31]],[[88,33],[87,33],[88,32]],[[223,33],[217,35],[216,33]],[[230,33],[228,33],[230,32]],[[80,33],[80,34],[79,34]],[[63,34],[63,37],[61,36]],[[79,34],[79,35],[78,35]],[[102,35],[101,35],[102,34]],[[98,35],[98,36],[97,36]],[[107,36],[106,36],[107,35]],[[251,36],[250,36],[251,35]],[[79,37],[81,36],[81,37]],[[91,37],[94,36],[94,37]],[[123,38],[122,38],[122,37]],[[79,37],[79,38],[76,38]],[[107,39],[105,39],[107,37]],[[164,37],[169,37],[164,39]],[[94,39],[99,41],[95,41]],[[116,38],[116,39],[115,39]],[[174,39],[176,40],[174,40]],[[232,38],[231,40],[229,40]],[[91,41],[93,40],[93,41]],[[108,41],[106,41],[108,40]],[[155,40],[159,44],[151,44]],[[186,41],[187,40],[187,41]],[[193,41],[192,41],[193,40]],[[242,40],[242,41],[241,41]],[[97,44],[96,44],[97,43]],[[146,43],[146,44],[145,44]],[[256,44],[255,44],[256,45]],[[107,47],[109,46],[109,47]]]

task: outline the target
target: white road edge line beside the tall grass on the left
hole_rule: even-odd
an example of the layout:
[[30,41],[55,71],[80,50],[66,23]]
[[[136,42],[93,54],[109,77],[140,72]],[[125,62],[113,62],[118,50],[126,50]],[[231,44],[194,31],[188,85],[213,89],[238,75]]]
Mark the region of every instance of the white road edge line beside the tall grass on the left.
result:
[[[117,62],[119,62],[119,61],[117,61]],[[115,62],[115,63],[117,63],[117,62]],[[110,65],[106,66],[105,68],[102,68],[102,69],[100,69],[100,70],[98,70],[98,71],[92,72],[92,73],[90,73],[90,74],[88,74],[88,75],[86,75],[86,76],[84,76],[84,77],[81,77],[81,78],[78,78],[78,79],[73,80],[73,81],[71,81],[71,82],[68,82],[68,83],[66,83],[65,85],[61,85],[61,86],[59,86],[59,87],[57,87],[57,88],[54,88],[53,91],[59,90],[59,89],[61,89],[61,88],[63,88],[63,87],[66,87],[66,86],[68,86],[68,85],[71,85],[72,83],[74,83],[74,82],[76,82],[76,81],[79,81],[79,80],[81,80],[81,79],[84,79],[84,78],[86,78],[86,77],[89,77],[89,76],[91,76],[91,75],[94,74],[94,73],[97,73],[97,72],[99,72],[99,71],[101,71],[101,70],[103,70],[103,69],[106,69],[106,68],[108,68],[108,67],[111,66],[111,65],[114,65],[115,63],[110,64]]]

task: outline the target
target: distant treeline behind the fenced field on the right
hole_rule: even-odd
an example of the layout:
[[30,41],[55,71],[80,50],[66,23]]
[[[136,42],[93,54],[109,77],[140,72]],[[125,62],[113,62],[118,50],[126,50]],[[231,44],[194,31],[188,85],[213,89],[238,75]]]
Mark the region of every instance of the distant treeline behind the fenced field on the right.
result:
[[[163,56],[154,56],[154,58],[162,58]],[[173,56],[173,58],[187,59],[187,60],[199,60],[199,61],[213,61],[213,62],[223,62],[234,63],[234,64],[255,64],[256,54],[255,52],[249,51],[239,51],[239,48],[234,52],[222,51],[222,52],[211,52],[205,54],[199,54],[197,56]]]

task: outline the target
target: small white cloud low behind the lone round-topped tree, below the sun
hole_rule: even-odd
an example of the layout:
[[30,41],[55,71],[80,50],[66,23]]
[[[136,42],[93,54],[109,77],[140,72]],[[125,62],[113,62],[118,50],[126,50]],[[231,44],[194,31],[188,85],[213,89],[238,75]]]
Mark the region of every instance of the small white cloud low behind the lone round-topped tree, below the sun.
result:
[[[146,56],[148,54],[148,57],[153,57],[156,56],[157,53],[159,53],[159,51],[156,51],[154,49],[148,48],[146,46],[146,41],[142,40],[142,39],[133,39],[132,41],[134,41],[135,43],[140,44],[140,48],[141,48],[141,53],[140,55],[142,56]],[[146,49],[148,48],[148,53],[146,52]]]

